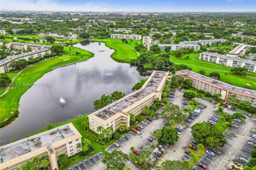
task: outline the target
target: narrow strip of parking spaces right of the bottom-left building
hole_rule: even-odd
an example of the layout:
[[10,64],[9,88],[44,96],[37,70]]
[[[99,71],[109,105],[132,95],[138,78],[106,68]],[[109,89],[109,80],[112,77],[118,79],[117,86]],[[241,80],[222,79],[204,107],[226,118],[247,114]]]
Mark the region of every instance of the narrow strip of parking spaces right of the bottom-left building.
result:
[[97,164],[98,162],[100,162],[104,157],[105,155],[103,155],[102,152],[99,152],[98,154],[93,155],[92,157],[87,158],[76,165],[71,166],[71,168],[74,170],[89,169],[94,164]]

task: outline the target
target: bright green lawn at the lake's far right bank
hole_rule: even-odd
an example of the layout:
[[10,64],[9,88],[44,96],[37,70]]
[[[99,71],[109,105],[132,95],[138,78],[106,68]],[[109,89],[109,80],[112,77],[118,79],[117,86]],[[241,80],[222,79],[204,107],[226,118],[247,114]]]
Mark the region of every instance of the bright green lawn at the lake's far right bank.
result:
[[[139,43],[138,40],[130,41],[126,45],[122,43],[121,39],[91,39],[92,41],[102,42],[105,43],[107,47],[115,49],[115,52],[111,55],[111,57],[119,62],[130,63],[132,59],[137,58],[138,54],[135,50],[131,49],[134,48],[136,42]],[[129,47],[131,48],[129,48]]]

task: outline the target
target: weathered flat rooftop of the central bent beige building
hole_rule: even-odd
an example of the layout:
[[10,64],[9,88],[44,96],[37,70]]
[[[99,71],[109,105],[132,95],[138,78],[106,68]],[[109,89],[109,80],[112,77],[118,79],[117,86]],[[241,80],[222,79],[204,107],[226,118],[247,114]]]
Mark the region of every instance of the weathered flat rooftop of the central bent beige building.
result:
[[122,100],[119,100],[114,105],[110,105],[109,107],[103,109],[100,112],[95,112],[94,115],[102,118],[103,120],[107,120],[109,117],[121,112],[123,109],[131,106],[140,99],[150,95],[151,93],[156,91],[165,73],[166,72],[164,71],[156,71],[153,77],[151,77],[151,79],[148,81],[145,88],[138,90],[138,92],[135,94],[125,96],[124,98],[122,98]]

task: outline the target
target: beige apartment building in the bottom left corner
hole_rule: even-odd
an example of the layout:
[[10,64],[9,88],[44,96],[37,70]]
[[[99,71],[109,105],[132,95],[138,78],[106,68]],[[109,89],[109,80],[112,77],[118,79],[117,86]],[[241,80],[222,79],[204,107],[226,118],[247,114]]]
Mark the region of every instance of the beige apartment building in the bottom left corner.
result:
[[51,169],[59,169],[58,157],[72,156],[80,151],[77,147],[82,135],[72,123],[36,134],[1,147],[1,170],[22,169],[22,166],[35,157],[49,159]]

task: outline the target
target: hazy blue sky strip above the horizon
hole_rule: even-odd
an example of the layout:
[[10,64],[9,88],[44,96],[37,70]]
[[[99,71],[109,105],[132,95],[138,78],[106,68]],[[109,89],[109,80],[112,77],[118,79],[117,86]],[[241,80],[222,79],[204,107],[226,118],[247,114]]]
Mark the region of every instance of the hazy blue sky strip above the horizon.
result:
[[0,0],[6,10],[256,12],[256,0]]

